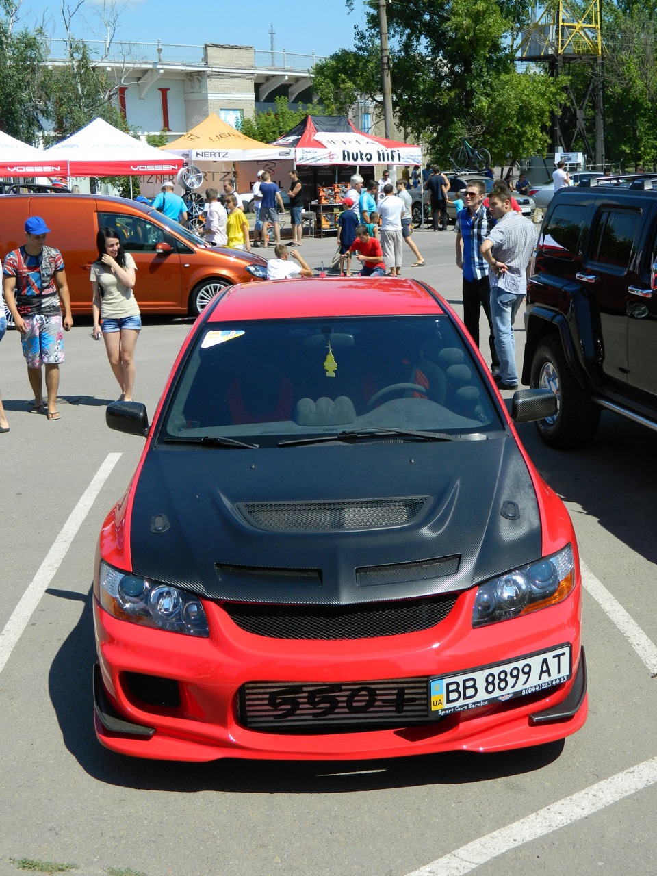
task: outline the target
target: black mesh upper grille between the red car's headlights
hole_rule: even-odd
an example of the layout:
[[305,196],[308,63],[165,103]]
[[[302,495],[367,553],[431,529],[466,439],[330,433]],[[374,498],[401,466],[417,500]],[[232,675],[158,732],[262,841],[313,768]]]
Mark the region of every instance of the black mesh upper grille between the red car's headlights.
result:
[[223,603],[233,623],[268,639],[375,639],[427,630],[447,618],[457,593],[357,605]]

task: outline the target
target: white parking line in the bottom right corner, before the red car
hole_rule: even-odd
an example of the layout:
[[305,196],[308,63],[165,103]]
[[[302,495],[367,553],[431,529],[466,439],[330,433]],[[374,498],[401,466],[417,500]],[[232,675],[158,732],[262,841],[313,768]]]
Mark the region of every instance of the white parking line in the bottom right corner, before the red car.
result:
[[520,818],[499,830],[493,830],[473,843],[462,845],[460,849],[449,852],[431,864],[413,870],[407,876],[463,876],[476,870],[492,858],[498,858],[505,851],[518,848],[539,837],[545,837],[562,827],[567,827],[581,818],[618,802],[624,797],[636,794],[657,782],[657,758],[644,760],[636,767],[629,767],[609,779],[598,781],[583,791],[577,791],[563,800],[551,803],[532,815]]

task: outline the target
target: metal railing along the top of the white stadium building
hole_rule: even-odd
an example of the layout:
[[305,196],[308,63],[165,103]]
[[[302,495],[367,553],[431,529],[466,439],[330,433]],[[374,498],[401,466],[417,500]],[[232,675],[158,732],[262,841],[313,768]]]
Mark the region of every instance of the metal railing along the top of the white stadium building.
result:
[[[108,63],[189,64],[206,67],[205,46],[176,46],[173,43],[129,43],[112,42],[109,46],[102,39],[81,40],[88,48],[92,60],[106,60]],[[295,54],[292,52],[254,51],[255,66],[277,70],[309,70],[314,63],[323,60],[315,54]],[[66,39],[51,39],[48,46],[48,60],[67,60]],[[230,66],[230,65],[229,65]]]

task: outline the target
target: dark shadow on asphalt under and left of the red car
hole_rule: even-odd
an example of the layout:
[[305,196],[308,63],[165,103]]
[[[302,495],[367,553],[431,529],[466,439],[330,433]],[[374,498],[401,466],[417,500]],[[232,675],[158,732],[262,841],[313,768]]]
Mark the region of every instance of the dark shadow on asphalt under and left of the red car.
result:
[[92,593],[49,589],[50,596],[84,603],[50,669],[48,688],[67,749],[90,776],[121,788],[152,791],[225,791],[233,794],[347,794],[382,788],[460,785],[531,773],[552,763],[563,743],[501,754],[422,755],[361,761],[222,759],[207,764],[125,758],[95,738],[91,690],[95,663]]

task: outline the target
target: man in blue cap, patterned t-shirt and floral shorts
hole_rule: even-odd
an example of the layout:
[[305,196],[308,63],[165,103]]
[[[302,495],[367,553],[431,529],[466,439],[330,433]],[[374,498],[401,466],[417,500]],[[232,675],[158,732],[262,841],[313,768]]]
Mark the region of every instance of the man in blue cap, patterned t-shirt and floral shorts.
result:
[[[32,413],[60,419],[57,390],[60,362],[64,361],[63,328],[73,325],[64,260],[59,250],[46,246],[50,231],[41,216],[25,223],[25,244],[4,259],[4,300],[20,332],[27,377],[34,393]],[[62,321],[60,299],[64,307]],[[46,370],[47,406],[44,411],[42,370]]]

